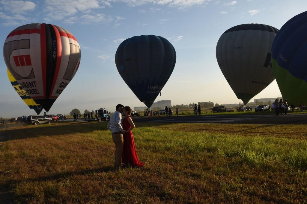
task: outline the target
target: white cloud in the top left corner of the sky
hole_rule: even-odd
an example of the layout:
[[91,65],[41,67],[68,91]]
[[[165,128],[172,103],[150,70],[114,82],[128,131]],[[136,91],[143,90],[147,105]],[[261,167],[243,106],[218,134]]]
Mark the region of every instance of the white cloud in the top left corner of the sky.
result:
[[1,1],[3,8],[11,13],[25,13],[34,10],[36,4],[29,1]]

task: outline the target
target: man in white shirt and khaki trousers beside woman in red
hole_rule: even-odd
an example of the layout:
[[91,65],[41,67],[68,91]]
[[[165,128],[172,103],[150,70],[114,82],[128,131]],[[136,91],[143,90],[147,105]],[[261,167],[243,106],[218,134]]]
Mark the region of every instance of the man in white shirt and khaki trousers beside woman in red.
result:
[[116,106],[116,111],[110,117],[110,121],[107,125],[107,129],[112,133],[112,139],[115,143],[115,169],[119,169],[122,164],[122,150],[124,147],[124,138],[123,134],[125,134],[125,130],[122,129],[122,111],[124,106],[122,104],[118,104]]

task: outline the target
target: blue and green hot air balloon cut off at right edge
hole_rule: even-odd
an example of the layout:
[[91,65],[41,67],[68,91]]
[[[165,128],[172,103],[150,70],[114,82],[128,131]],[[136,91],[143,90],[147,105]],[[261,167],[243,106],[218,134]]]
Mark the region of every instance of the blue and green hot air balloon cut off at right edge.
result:
[[307,104],[307,12],[287,21],[272,45],[272,65],[282,97]]

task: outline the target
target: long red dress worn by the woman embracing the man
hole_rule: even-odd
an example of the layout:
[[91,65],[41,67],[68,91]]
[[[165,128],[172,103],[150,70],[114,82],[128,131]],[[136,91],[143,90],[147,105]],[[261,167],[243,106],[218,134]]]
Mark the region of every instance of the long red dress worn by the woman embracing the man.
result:
[[[131,128],[131,125],[128,122],[128,117],[125,117],[124,121],[122,122],[124,130],[128,130]],[[126,132],[124,134],[124,149],[122,151],[122,163],[123,165],[130,164],[132,167],[141,167],[145,165],[144,163],[138,161],[138,154],[136,153],[133,134],[131,131]]]

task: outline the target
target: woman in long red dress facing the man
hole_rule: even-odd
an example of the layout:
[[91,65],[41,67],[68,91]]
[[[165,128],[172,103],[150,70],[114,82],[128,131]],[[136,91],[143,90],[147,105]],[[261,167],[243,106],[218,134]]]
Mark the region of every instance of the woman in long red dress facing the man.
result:
[[138,155],[136,153],[133,134],[131,130],[135,127],[132,118],[130,116],[131,108],[129,106],[125,106],[123,110],[123,115],[125,115],[125,119],[123,120],[123,129],[126,130],[124,134],[124,149],[122,151],[122,164],[124,166],[132,166],[132,167],[141,167],[144,166],[144,163],[138,161]]

